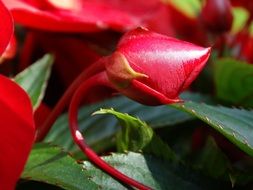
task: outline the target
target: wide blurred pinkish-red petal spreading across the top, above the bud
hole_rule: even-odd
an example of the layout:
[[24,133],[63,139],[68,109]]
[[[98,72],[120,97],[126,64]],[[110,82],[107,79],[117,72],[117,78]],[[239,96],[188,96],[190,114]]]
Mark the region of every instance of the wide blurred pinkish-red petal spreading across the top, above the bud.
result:
[[[15,21],[25,26],[50,31],[94,32],[104,29],[124,31],[144,25],[171,33],[164,5],[157,1],[119,0],[71,1],[3,0],[12,11]],[[67,2],[67,1],[64,1]],[[64,6],[63,6],[64,5]],[[65,7],[65,8],[63,8]],[[161,21],[162,20],[162,21]],[[159,23],[156,23],[159,22]],[[162,32],[162,31],[159,31]]]

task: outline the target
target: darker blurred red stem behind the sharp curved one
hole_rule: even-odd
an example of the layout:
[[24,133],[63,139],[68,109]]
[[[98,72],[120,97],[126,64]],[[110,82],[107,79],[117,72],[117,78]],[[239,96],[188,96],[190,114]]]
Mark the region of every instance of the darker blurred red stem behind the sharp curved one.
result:
[[37,128],[36,142],[42,141],[45,138],[45,136],[51,129],[57,117],[62,113],[66,105],[69,104],[72,95],[74,94],[75,90],[80,86],[80,84],[82,84],[87,78],[105,69],[104,64],[105,64],[106,59],[107,59],[106,57],[102,58],[99,61],[92,64],[87,69],[85,69],[75,79],[75,81],[69,86],[69,88],[66,90],[64,95],[58,101],[58,103],[56,104],[54,109],[51,111],[50,115],[48,116],[46,121],[43,123],[43,125]]

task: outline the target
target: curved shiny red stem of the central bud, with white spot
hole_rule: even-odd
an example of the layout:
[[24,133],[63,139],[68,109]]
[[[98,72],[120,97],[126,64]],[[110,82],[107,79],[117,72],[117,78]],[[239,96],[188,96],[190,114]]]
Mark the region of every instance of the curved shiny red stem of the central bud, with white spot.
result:
[[89,90],[92,87],[96,86],[105,86],[109,88],[113,88],[108,81],[107,75],[104,72],[98,73],[91,77],[90,79],[86,80],[75,92],[75,94],[72,97],[72,100],[70,102],[69,107],[69,126],[71,130],[71,134],[73,136],[73,139],[75,143],[80,147],[80,149],[85,153],[85,155],[99,168],[101,168],[103,171],[107,172],[117,180],[127,184],[131,185],[133,187],[136,187],[138,189],[142,190],[148,190],[151,189],[150,187],[147,187],[138,181],[135,181],[134,179],[124,175],[123,173],[119,172],[109,164],[107,164],[104,160],[102,160],[84,141],[84,137],[82,136],[81,132],[78,129],[78,107],[83,98],[87,96],[89,93]]

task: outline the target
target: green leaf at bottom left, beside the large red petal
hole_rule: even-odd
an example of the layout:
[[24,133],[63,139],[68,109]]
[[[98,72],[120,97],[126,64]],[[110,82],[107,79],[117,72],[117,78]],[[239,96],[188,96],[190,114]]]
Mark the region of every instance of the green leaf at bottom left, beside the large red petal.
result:
[[23,179],[45,182],[67,190],[98,189],[82,167],[58,147],[37,144],[25,166]]

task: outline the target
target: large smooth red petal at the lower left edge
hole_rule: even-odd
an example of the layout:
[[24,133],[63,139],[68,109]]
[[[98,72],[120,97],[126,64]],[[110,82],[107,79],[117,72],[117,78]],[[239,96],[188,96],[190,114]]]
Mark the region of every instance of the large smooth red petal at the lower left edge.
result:
[[0,75],[0,189],[14,189],[35,136],[33,113],[27,94]]

